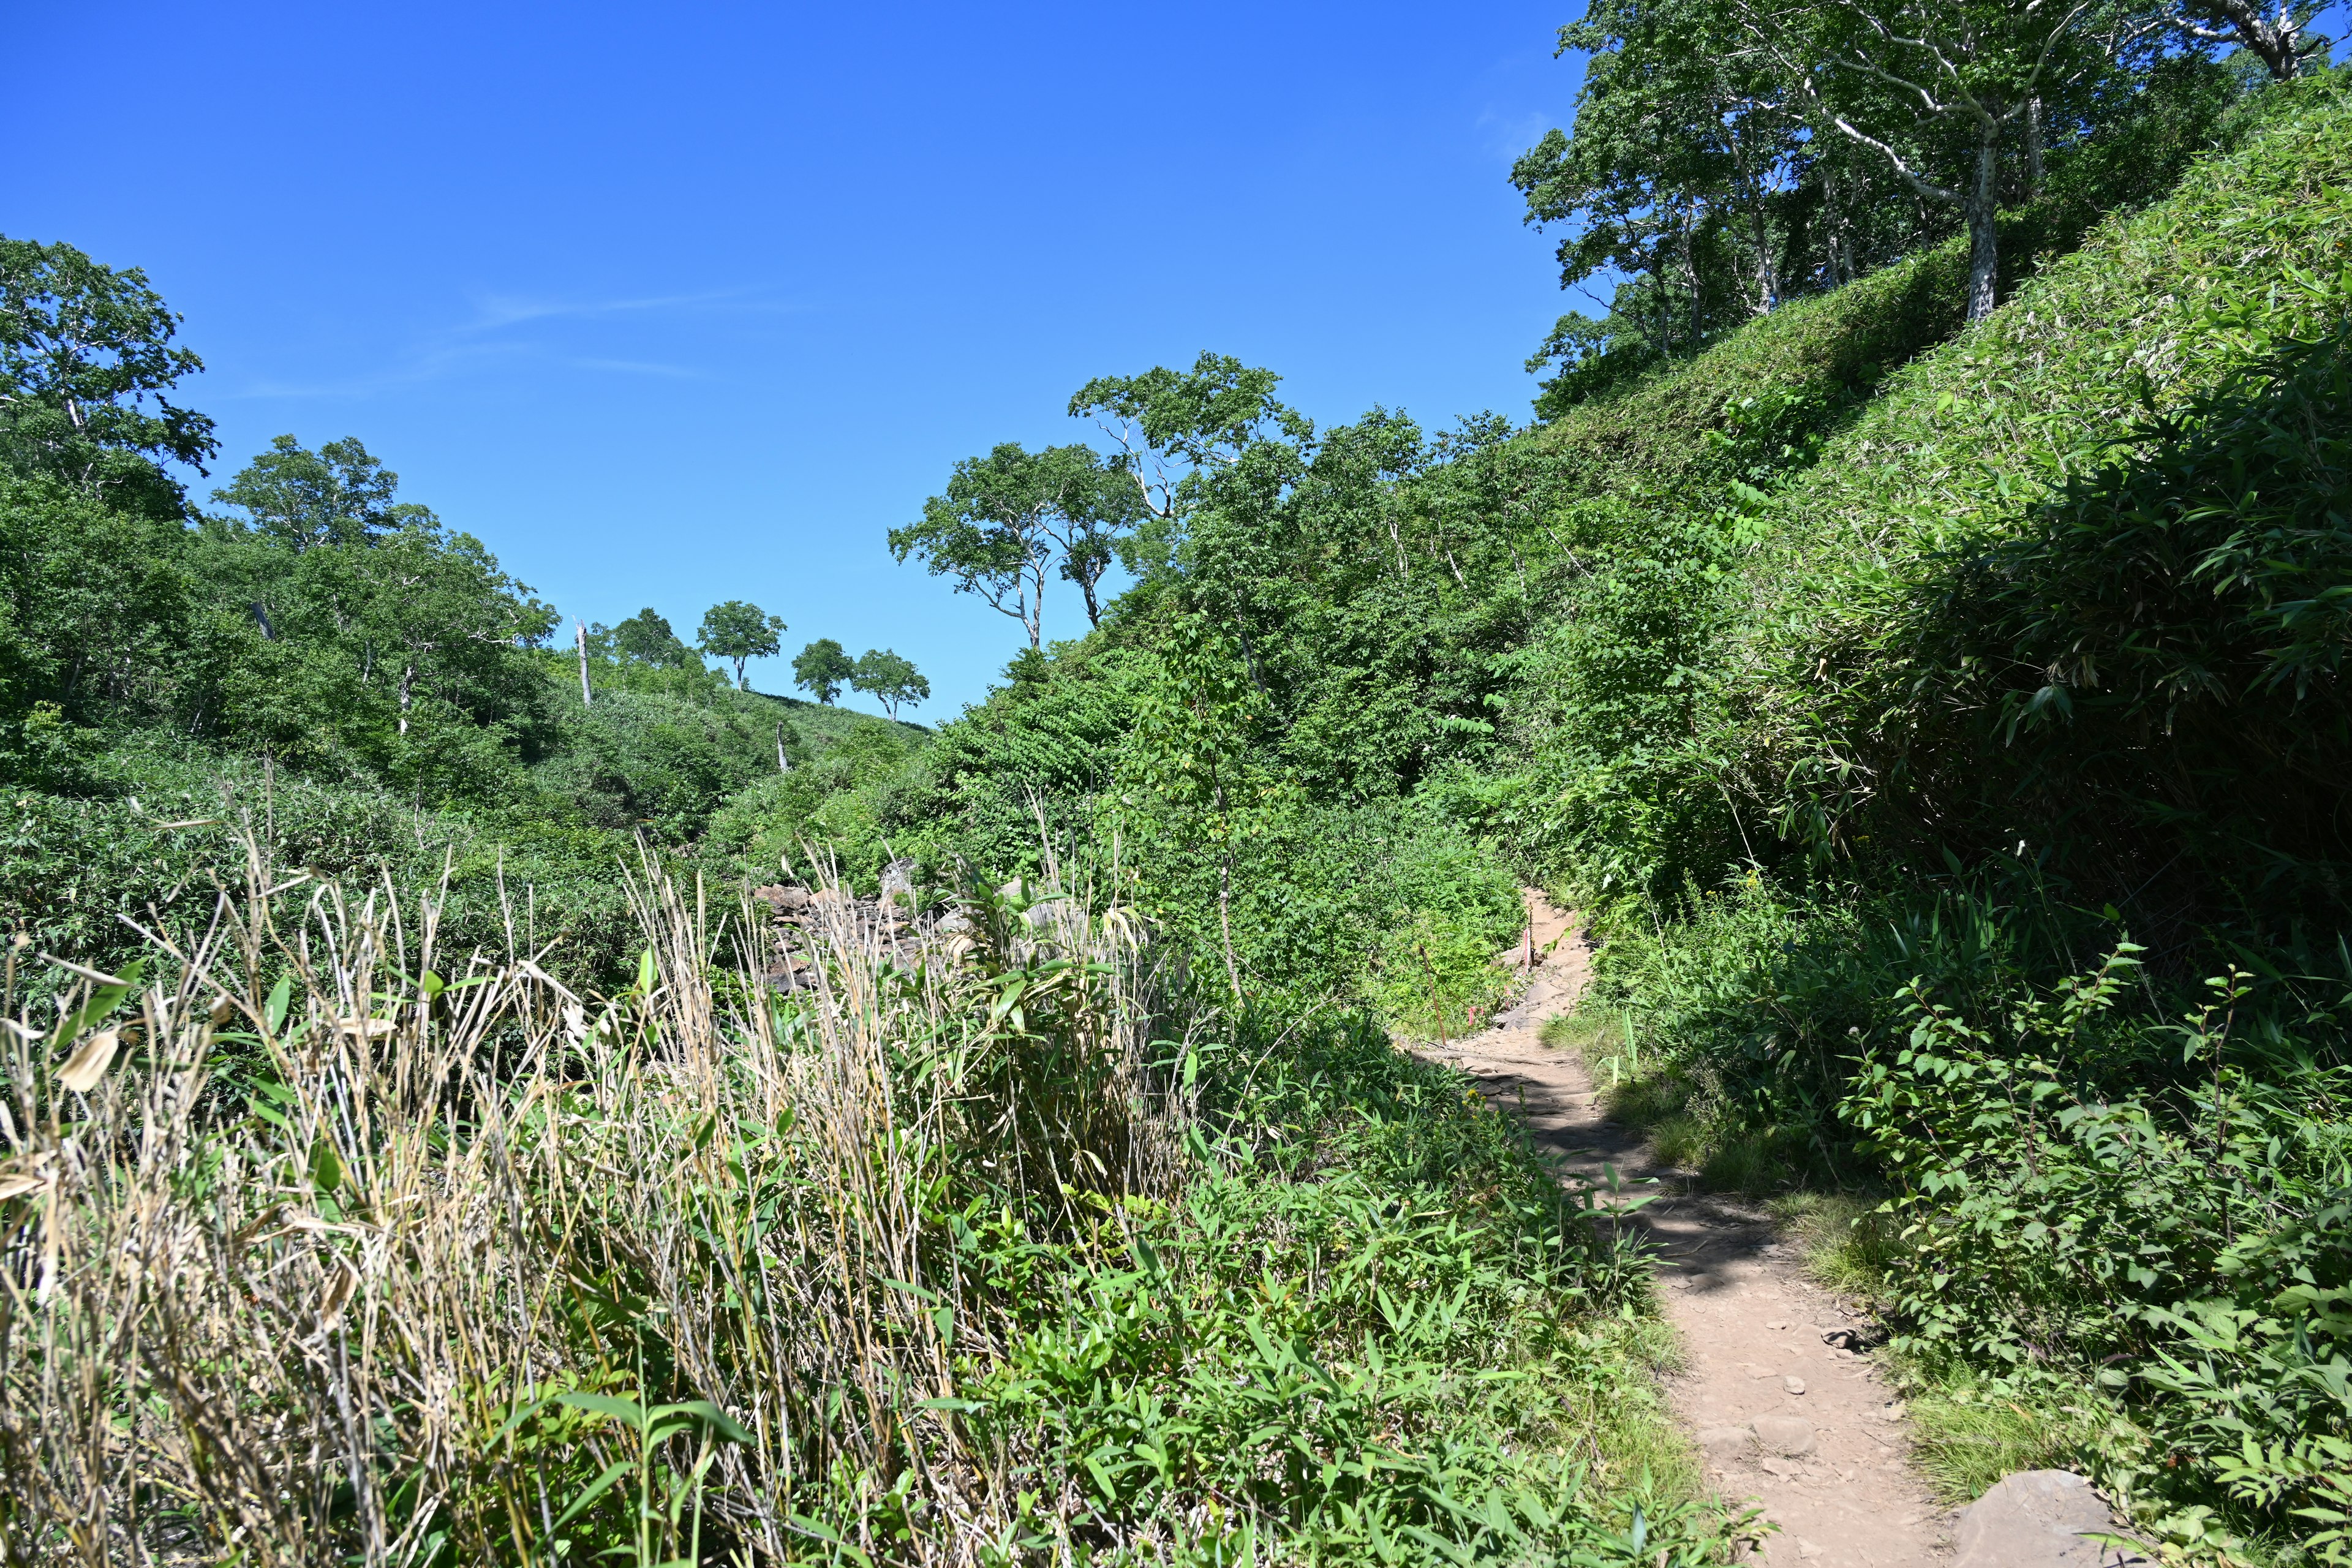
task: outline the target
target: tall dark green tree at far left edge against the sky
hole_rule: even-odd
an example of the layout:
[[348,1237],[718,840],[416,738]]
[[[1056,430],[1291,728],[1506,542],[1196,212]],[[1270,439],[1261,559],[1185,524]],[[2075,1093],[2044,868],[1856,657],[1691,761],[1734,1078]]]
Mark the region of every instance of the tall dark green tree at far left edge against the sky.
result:
[[219,451],[212,421],[165,397],[205,369],[172,343],[179,322],[139,268],[0,237],[0,454],[176,515],[179,487],[160,463],[202,473]]

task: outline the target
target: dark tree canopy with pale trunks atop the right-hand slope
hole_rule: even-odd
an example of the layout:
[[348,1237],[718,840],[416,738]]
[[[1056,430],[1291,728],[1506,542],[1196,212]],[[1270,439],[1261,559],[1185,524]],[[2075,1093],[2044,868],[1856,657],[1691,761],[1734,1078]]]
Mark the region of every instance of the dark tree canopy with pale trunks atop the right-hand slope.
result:
[[[1592,0],[1559,31],[1562,54],[1588,54],[1576,118],[1510,172],[1526,221],[1564,230],[1562,287],[1609,289],[1529,360],[1557,367],[1538,411],[1950,233],[1969,242],[1966,320],[1983,320],[2013,273],[2004,212],[2046,244],[2131,186],[2124,165],[2154,195],[2230,99],[2216,49],[2291,75],[2321,47],[2310,14],[2307,0]],[[2105,174],[2053,200],[2049,176],[2072,160]]]

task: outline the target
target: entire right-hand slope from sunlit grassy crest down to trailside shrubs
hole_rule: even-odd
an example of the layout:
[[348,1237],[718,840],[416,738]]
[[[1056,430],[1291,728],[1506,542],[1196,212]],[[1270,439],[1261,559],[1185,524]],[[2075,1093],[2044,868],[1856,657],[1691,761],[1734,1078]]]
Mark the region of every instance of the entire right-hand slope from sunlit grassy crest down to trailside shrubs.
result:
[[2206,1561],[2347,1554],[2347,350],[2338,75],[1719,510],[1689,729],[1550,776],[1686,875],[1621,1112],[1835,1215],[1957,1495],[2074,1465]]

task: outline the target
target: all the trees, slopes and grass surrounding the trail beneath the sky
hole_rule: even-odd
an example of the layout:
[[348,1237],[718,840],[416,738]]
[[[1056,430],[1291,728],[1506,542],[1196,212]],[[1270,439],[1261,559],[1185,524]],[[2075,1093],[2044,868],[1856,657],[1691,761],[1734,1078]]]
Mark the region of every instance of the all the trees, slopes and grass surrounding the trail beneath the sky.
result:
[[1729,1561],[1628,1232],[1392,1048],[1526,884],[1950,1493],[2352,1561],[2352,87],[1884,9],[1562,33],[1529,425],[1204,353],[960,463],[936,729],[562,646],[355,440],[200,501],[176,317],[7,242],[9,1561]]

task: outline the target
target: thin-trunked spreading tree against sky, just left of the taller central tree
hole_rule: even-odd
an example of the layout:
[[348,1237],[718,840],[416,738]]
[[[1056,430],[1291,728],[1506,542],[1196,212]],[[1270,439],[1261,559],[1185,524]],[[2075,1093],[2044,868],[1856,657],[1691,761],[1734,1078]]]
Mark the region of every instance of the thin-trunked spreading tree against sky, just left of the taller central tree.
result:
[[1047,567],[1061,559],[1061,576],[1087,602],[1087,625],[1101,625],[1098,585],[1138,517],[1122,465],[1091,447],[1025,451],[1004,442],[957,463],[948,494],[924,501],[922,522],[891,529],[889,548],[1018,621],[1035,649],[1044,639]]

